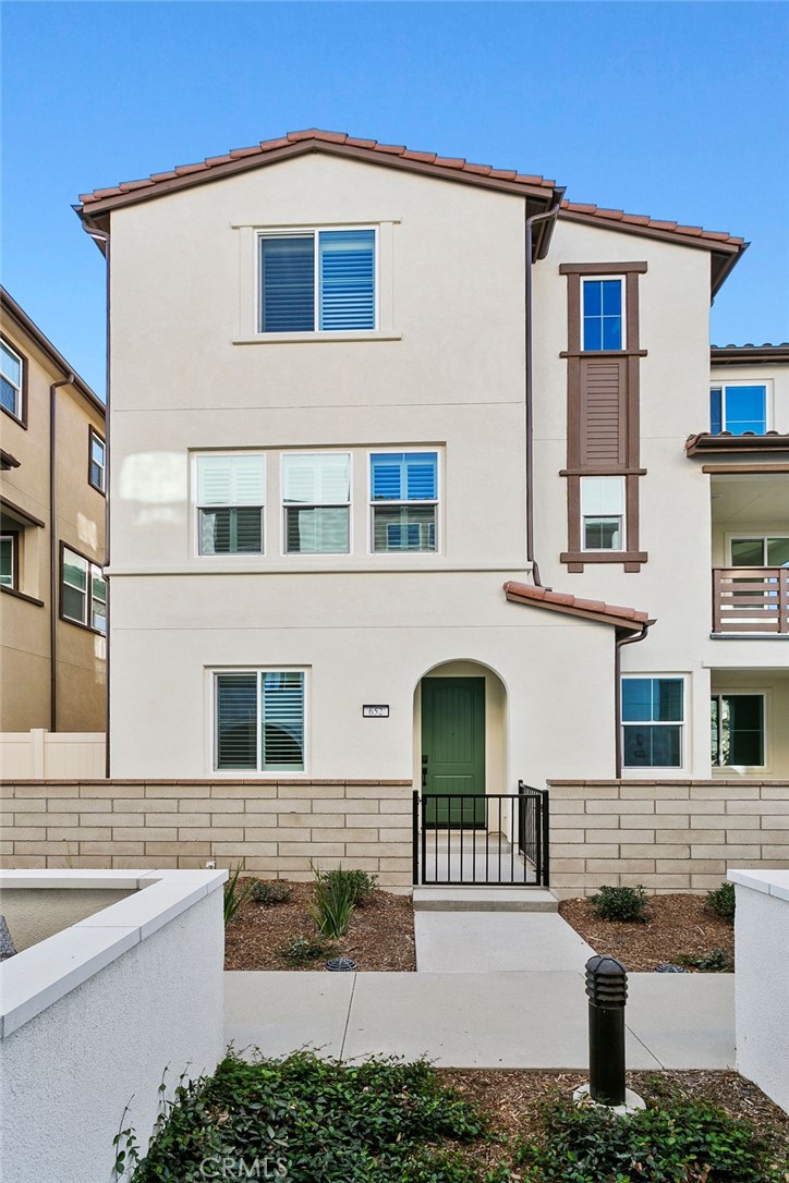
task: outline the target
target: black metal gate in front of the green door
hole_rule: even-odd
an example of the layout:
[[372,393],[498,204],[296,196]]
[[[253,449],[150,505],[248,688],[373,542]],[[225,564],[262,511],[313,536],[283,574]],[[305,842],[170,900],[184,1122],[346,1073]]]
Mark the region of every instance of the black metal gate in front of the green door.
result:
[[415,884],[548,887],[548,789],[421,795],[414,790]]

